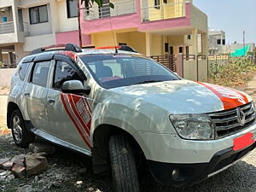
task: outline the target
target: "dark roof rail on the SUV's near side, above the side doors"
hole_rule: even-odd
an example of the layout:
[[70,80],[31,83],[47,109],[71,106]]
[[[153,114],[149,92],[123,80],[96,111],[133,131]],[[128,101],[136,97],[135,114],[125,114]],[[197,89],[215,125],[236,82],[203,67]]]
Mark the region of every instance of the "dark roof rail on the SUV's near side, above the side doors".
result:
[[82,49],[80,49],[79,46],[76,44],[53,44],[46,47],[33,49],[31,55],[43,53],[44,51],[50,50],[69,50],[76,53],[82,52]]

